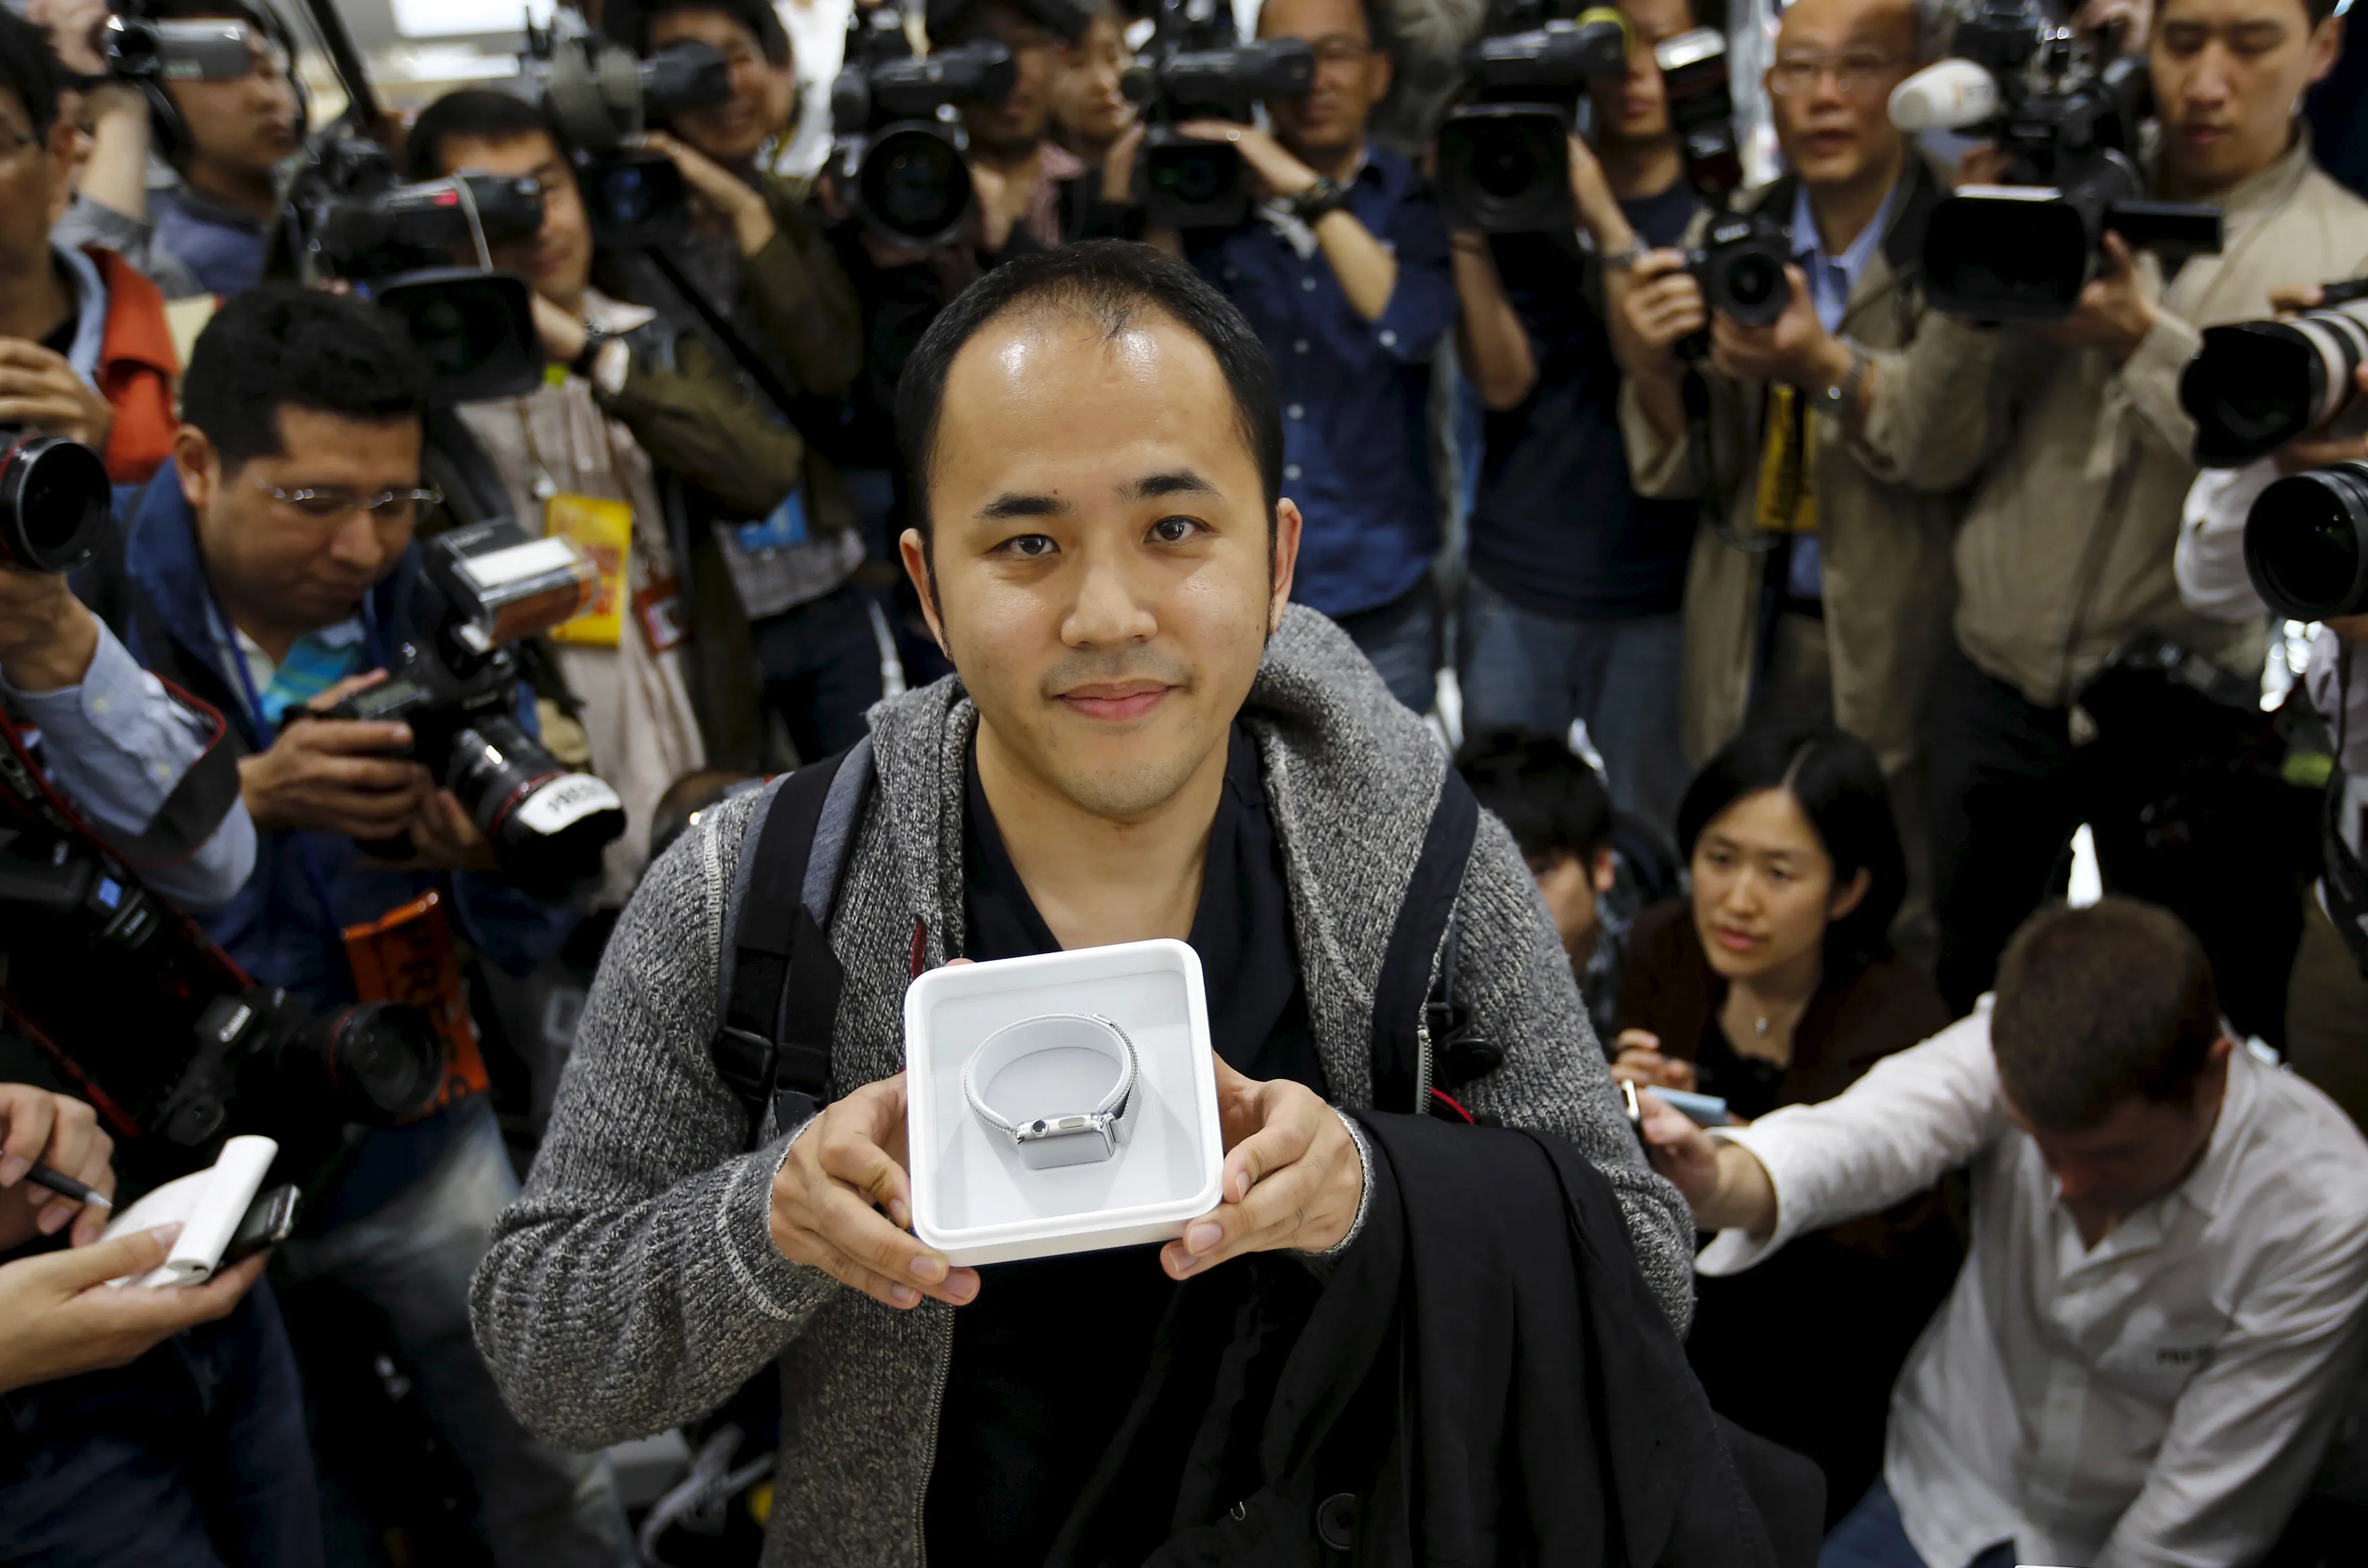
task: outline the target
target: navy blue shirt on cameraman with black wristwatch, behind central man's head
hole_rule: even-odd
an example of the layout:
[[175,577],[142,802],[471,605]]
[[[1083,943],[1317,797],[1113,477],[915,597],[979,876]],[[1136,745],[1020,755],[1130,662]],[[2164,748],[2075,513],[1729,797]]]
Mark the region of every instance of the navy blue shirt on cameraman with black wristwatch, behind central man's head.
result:
[[1411,590],[1440,550],[1430,488],[1430,355],[1456,320],[1447,230],[1414,166],[1373,149],[1350,213],[1397,258],[1378,322],[1357,315],[1321,249],[1265,216],[1184,234],[1198,272],[1241,306],[1283,396],[1283,495],[1307,528],[1291,597],[1326,616]]

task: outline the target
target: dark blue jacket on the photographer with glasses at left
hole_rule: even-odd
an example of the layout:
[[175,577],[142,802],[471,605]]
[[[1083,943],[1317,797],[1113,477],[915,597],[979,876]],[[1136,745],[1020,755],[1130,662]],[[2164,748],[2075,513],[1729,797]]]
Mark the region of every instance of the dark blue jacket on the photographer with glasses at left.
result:
[[[85,597],[114,623],[133,658],[218,706],[242,751],[263,751],[272,737],[223,668],[197,523],[175,467],[168,462],[133,497],[121,561],[97,568],[116,580]],[[433,630],[414,623],[419,587],[419,547],[412,545],[362,606],[374,666],[386,666],[405,640]],[[533,699],[523,689],[521,706],[533,725]],[[287,985],[317,1004],[339,1004],[353,1000],[343,928],[407,905],[429,888],[450,886],[459,933],[488,962],[516,973],[556,955],[580,919],[573,905],[533,900],[500,876],[386,872],[362,860],[360,848],[339,834],[258,834],[253,876],[237,898],[204,917],[204,926],[258,981]]]

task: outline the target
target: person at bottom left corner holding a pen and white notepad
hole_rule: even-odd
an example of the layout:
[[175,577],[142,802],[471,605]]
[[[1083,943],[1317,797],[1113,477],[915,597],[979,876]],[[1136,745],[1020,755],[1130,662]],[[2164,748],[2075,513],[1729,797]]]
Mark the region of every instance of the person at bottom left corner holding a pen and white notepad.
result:
[[296,1364],[270,1291],[251,1291],[265,1258],[197,1286],[109,1286],[161,1265],[180,1227],[99,1241],[104,1213],[26,1177],[40,1161],[114,1191],[83,1101],[0,1082],[0,1559],[320,1563]]

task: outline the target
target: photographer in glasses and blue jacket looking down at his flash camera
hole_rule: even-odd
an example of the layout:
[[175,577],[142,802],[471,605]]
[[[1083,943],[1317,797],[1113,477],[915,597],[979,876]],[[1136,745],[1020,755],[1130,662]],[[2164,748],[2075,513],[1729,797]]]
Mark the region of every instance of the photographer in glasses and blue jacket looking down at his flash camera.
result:
[[[455,1052],[448,1104],[360,1137],[282,1267],[386,1315],[429,1419],[476,1480],[495,1561],[618,1561],[606,1469],[526,1438],[464,1329],[469,1270],[516,1180],[471,1092],[483,1066],[452,945],[523,973],[575,910],[493,874],[476,822],[405,756],[407,725],[303,718],[436,635],[412,542],[436,502],[419,488],[426,384],[395,317],[358,298],[265,284],[230,301],[189,355],[192,422],[137,495],[97,595],[126,647],[230,715],[246,753],[263,841],[208,933],[315,1007],[431,1007]],[[395,836],[412,857],[388,865],[369,846]]]

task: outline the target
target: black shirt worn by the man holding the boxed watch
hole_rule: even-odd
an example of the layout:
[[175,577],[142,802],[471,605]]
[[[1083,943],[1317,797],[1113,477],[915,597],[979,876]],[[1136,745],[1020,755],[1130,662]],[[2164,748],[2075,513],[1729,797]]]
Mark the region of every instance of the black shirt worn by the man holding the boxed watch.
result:
[[[1058,952],[1011,869],[973,748],[964,810],[964,921],[973,959]],[[1208,985],[1210,1040],[1250,1078],[1324,1094],[1307,1028],[1291,895],[1267,817],[1257,746],[1234,727],[1224,793],[1208,834],[1191,945]],[[980,1270],[954,1312],[924,1537],[945,1561],[1040,1563],[1118,1433],[1151,1338],[1179,1286],[1156,1246]]]

